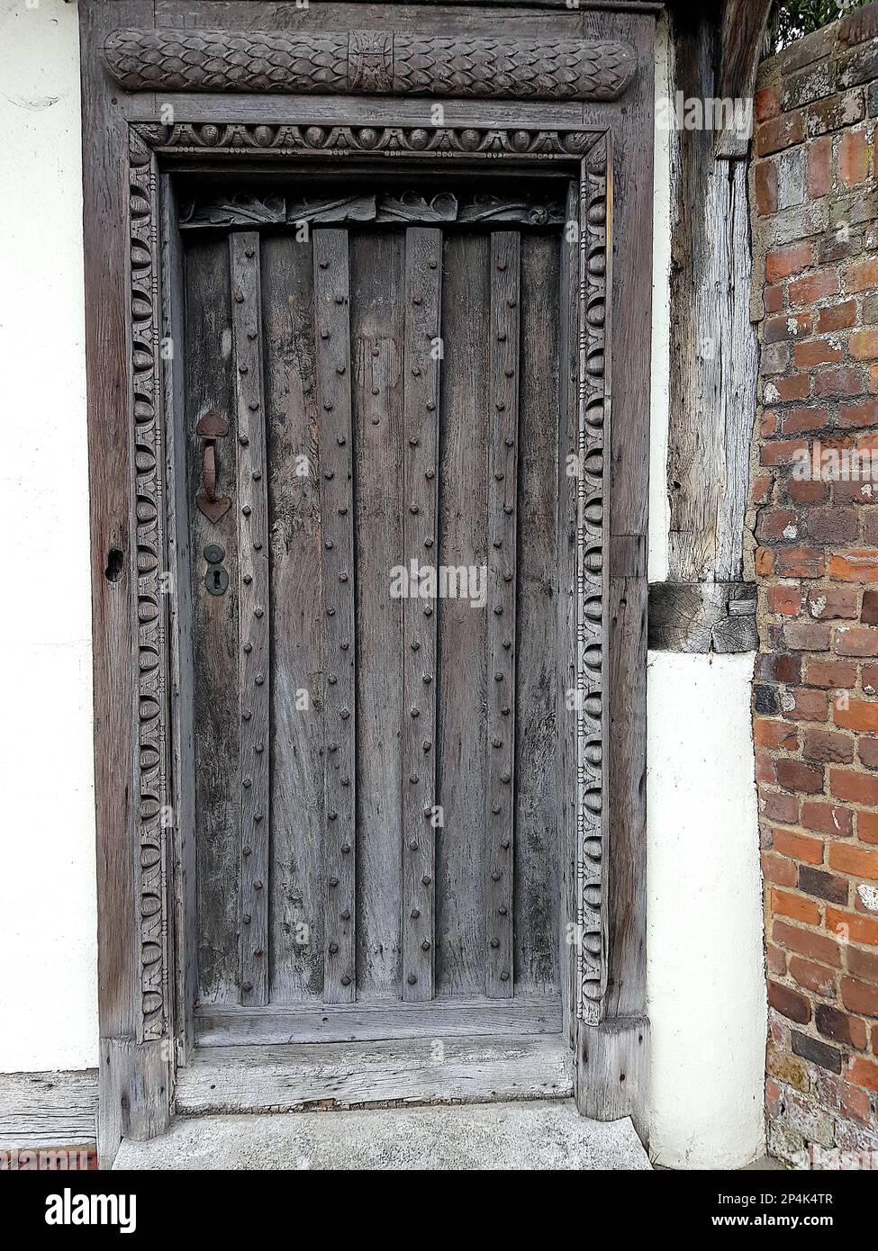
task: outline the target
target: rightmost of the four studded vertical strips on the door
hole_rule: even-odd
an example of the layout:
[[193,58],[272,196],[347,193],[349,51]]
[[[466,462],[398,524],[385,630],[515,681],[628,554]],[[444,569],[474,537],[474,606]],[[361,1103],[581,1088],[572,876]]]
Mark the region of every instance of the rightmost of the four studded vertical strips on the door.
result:
[[520,236],[491,233],[488,438],[485,992],[514,993],[515,559],[519,439]]

